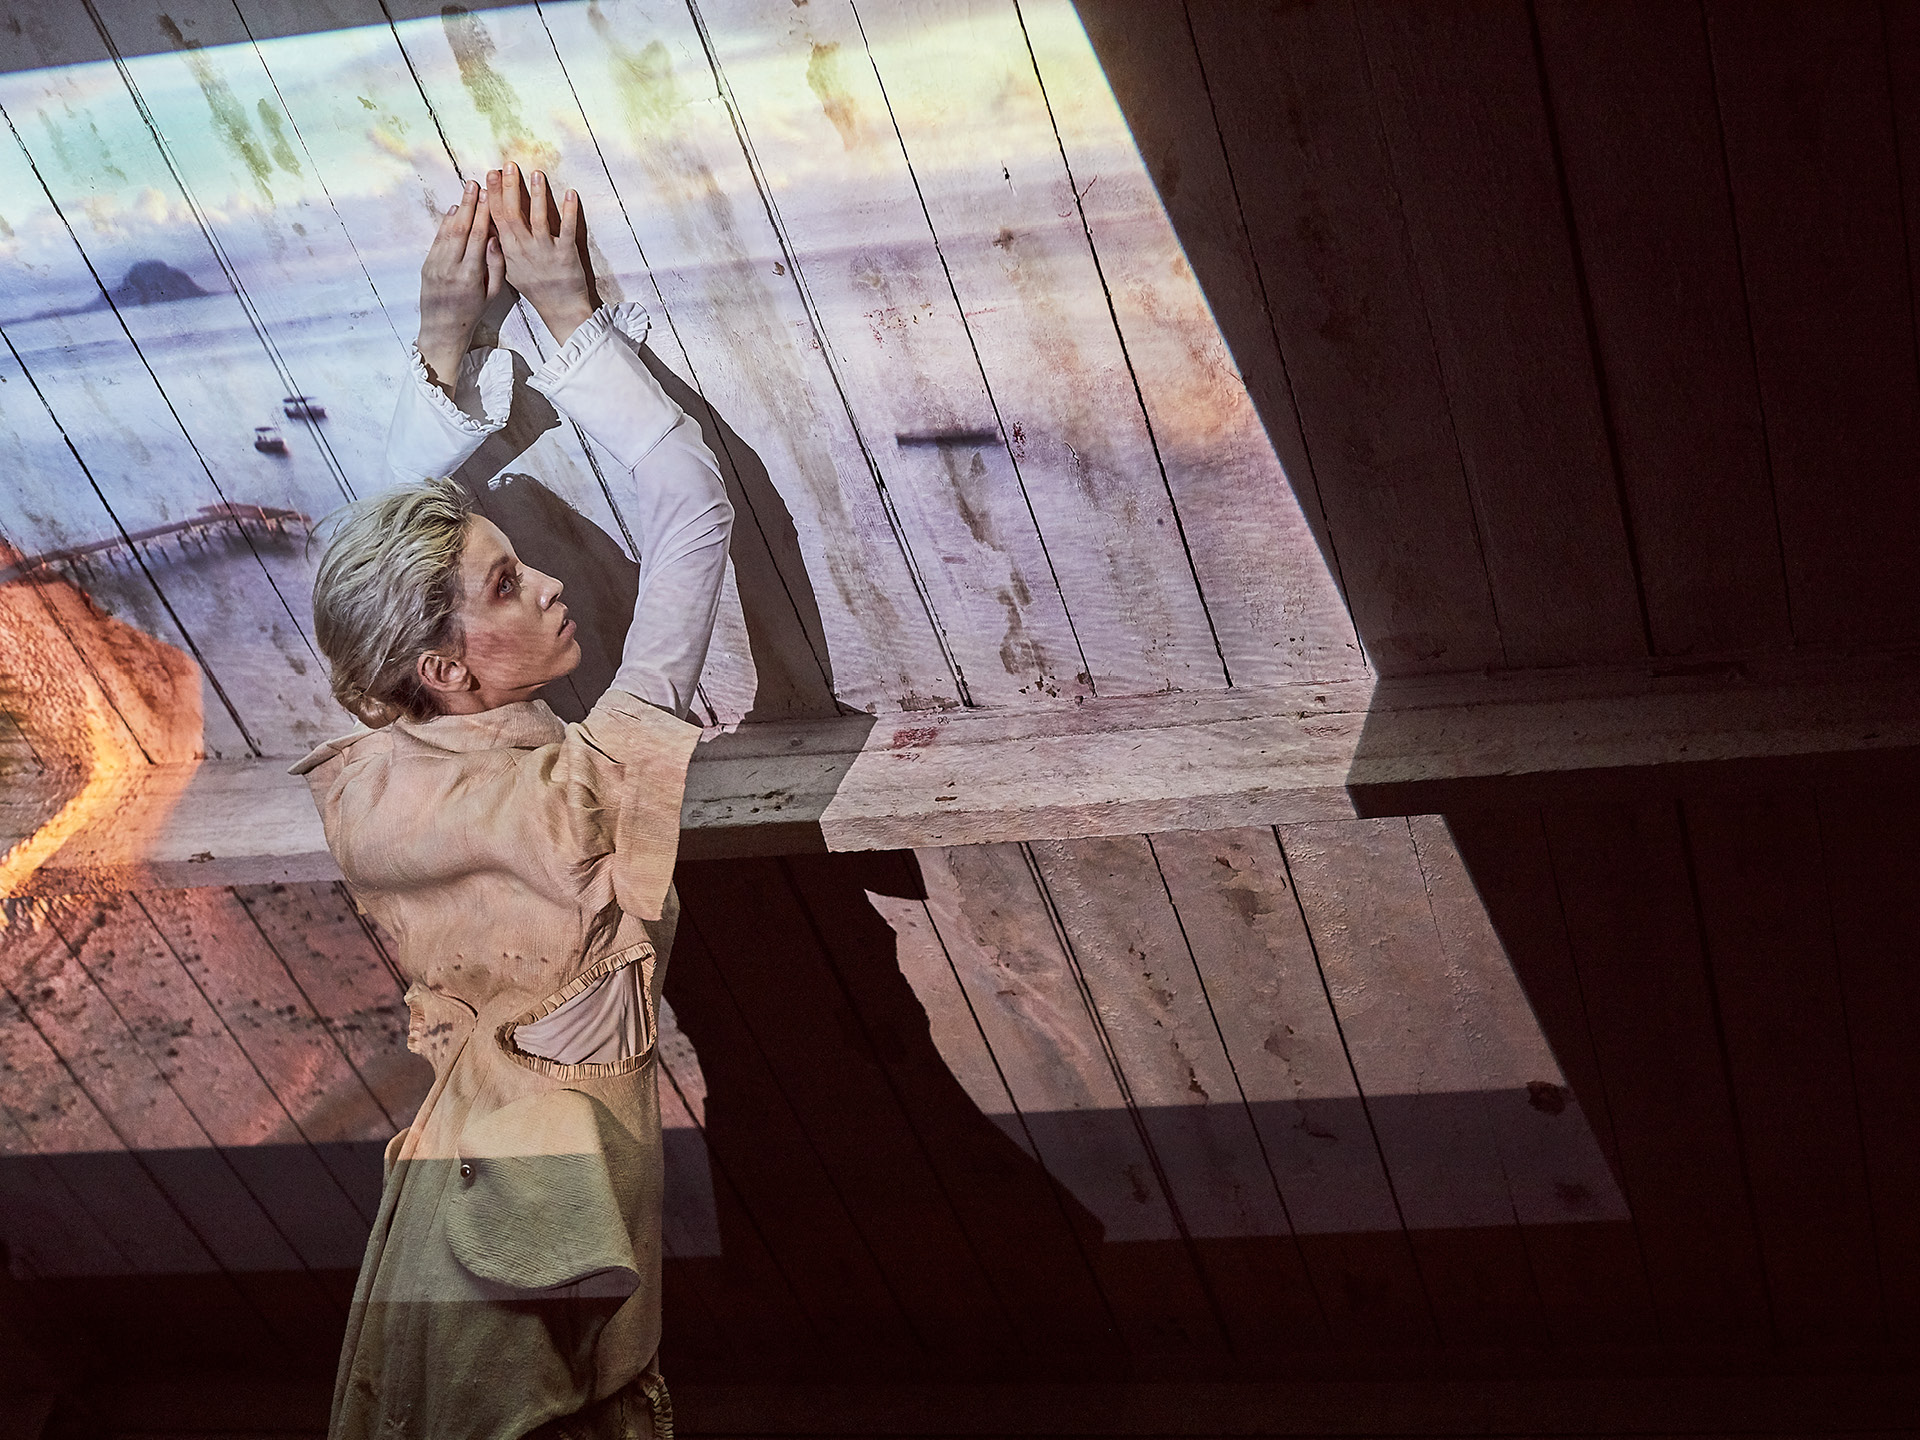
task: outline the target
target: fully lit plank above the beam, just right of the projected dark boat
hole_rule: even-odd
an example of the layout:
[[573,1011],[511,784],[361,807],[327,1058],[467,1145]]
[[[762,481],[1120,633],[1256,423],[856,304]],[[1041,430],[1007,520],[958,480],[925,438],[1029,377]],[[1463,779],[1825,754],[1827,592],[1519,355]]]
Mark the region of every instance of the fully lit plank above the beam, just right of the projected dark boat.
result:
[[1225,685],[1014,6],[868,2],[858,31],[1094,693]]

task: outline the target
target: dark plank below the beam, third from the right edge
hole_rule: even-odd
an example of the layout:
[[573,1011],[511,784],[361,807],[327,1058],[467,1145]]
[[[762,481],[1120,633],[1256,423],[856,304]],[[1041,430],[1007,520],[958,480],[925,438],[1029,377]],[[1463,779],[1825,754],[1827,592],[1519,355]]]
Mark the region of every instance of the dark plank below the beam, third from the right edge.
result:
[[1542,824],[1659,1334],[1764,1342],[1766,1283],[1678,816],[1553,806]]

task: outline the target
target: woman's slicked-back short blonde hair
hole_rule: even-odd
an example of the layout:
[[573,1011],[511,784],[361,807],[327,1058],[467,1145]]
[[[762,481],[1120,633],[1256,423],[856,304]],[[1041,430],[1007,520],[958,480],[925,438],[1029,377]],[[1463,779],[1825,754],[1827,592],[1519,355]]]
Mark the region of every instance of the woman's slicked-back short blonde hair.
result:
[[420,480],[353,501],[313,578],[313,637],[334,699],[369,726],[440,712],[417,660],[461,643],[461,549],[472,499],[451,480]]

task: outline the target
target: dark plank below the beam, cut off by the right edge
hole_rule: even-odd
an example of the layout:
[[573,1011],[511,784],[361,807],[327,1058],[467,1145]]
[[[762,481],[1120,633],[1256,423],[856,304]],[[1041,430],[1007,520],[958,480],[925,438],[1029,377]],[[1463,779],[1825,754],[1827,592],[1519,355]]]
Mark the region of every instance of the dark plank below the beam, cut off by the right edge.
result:
[[1872,795],[1818,797],[1820,852],[1834,904],[1834,947],[1847,1006],[1853,1094],[1860,1108],[1866,1181],[1874,1204],[1880,1292],[1895,1342],[1920,1334],[1920,906],[1910,877],[1920,862],[1910,785]]

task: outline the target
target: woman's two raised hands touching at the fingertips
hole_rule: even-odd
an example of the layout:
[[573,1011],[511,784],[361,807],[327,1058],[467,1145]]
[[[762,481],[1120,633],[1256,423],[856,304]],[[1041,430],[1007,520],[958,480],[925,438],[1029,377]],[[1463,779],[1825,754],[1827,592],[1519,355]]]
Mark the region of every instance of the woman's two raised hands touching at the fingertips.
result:
[[534,171],[530,179],[532,194],[509,161],[488,171],[484,188],[468,180],[420,265],[420,359],[447,396],[474,326],[503,286],[518,290],[561,344],[599,309],[580,196],[568,190],[555,205],[547,177]]

